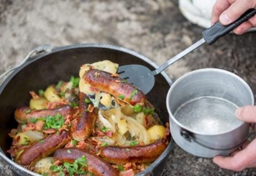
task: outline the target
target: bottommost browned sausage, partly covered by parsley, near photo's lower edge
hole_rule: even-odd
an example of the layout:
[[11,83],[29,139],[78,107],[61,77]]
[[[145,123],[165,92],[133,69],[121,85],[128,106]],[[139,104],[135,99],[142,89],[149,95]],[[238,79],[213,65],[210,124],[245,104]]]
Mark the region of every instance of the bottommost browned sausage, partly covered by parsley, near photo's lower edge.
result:
[[60,162],[73,163],[77,158],[80,158],[83,155],[87,159],[88,165],[85,170],[92,172],[93,175],[119,175],[119,172],[115,170],[109,163],[105,162],[102,158],[86,150],[79,150],[78,148],[61,148],[56,150],[54,153],[54,159],[60,160]]

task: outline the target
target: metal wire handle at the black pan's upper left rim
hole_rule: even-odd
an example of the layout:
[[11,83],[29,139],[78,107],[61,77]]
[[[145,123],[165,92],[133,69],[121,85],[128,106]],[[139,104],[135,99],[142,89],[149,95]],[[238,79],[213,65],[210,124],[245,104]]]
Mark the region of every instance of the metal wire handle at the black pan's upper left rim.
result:
[[50,46],[48,44],[45,45],[41,45],[36,47],[35,49],[33,49],[32,51],[30,51],[28,53],[28,55],[26,56],[26,58],[24,58],[24,60],[18,65],[15,66],[14,68],[11,68],[11,70],[8,70],[6,72],[4,72],[1,76],[0,76],[0,80],[2,80],[4,78],[4,76],[7,76],[9,73],[12,73],[14,70],[16,70],[17,68],[19,68],[20,66],[24,65],[25,63],[27,63],[28,61],[31,61],[31,59],[33,58],[33,56],[37,56],[41,53],[45,53],[45,52],[51,52],[51,50],[53,49],[53,46]]

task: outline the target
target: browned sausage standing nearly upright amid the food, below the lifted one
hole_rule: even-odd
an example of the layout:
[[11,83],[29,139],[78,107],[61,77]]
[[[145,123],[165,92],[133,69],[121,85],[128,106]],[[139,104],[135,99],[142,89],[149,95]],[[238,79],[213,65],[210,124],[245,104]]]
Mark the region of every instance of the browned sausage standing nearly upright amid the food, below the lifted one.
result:
[[85,103],[85,98],[88,98],[85,93],[81,92],[79,98],[79,115],[77,123],[72,123],[72,136],[75,140],[83,141],[92,133],[97,118],[97,110],[93,108],[92,112],[88,111],[88,106],[92,106],[92,104]]

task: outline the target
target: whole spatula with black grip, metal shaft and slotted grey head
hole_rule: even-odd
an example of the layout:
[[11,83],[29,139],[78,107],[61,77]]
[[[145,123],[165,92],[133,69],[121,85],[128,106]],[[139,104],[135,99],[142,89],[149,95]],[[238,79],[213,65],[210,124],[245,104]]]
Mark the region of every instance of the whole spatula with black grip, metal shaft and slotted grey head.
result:
[[154,75],[161,73],[161,71],[166,69],[169,65],[183,58],[184,56],[186,56],[186,54],[198,48],[205,42],[209,45],[215,43],[218,38],[230,33],[230,31],[237,28],[237,26],[242,24],[244,21],[247,21],[247,19],[251,18],[255,14],[256,9],[249,9],[232,24],[223,26],[222,24],[220,24],[220,22],[215,23],[213,26],[211,26],[211,28],[203,31],[203,38],[201,38],[195,44],[192,44],[191,46],[189,46],[189,48],[177,54],[170,60],[166,61],[163,65],[159,66],[159,68],[154,71],[151,71],[149,70],[149,68],[142,65],[120,66],[118,70],[120,78],[123,78],[124,80],[127,80],[128,82],[134,84],[135,86],[137,86],[137,88],[140,88],[145,94],[147,94],[154,86]]

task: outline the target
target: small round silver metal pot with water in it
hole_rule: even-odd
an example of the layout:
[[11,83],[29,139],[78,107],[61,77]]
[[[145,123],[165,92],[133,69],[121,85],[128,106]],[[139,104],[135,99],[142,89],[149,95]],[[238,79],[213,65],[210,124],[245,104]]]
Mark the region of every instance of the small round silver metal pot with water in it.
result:
[[168,91],[173,139],[183,150],[199,157],[228,155],[250,135],[250,125],[237,120],[235,109],[253,105],[253,101],[247,83],[229,71],[191,71]]

